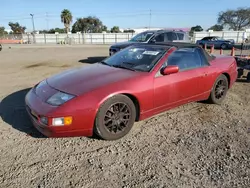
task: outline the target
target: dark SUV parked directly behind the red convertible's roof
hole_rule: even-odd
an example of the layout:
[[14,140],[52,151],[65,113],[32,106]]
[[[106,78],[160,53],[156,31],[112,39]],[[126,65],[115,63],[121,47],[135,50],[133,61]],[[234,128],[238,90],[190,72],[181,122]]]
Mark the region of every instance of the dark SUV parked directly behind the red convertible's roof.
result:
[[182,30],[148,30],[135,35],[126,42],[119,42],[109,48],[109,55],[120,51],[123,48],[136,43],[156,43],[156,42],[186,42],[190,43],[188,33]]

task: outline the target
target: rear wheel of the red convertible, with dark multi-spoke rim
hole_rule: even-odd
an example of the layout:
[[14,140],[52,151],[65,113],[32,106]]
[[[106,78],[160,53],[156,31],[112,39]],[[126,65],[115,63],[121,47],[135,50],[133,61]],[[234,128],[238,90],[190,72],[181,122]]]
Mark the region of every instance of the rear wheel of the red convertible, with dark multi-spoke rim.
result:
[[228,79],[224,74],[222,74],[216,79],[208,98],[208,102],[211,104],[221,104],[226,97],[227,91]]

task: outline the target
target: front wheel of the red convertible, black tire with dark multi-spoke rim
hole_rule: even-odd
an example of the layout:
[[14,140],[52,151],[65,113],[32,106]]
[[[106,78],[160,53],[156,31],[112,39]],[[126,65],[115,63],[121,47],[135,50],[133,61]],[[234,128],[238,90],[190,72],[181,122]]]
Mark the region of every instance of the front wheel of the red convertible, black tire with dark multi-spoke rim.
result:
[[135,118],[136,108],[133,101],[125,95],[115,95],[99,108],[94,132],[104,140],[120,139],[131,130]]

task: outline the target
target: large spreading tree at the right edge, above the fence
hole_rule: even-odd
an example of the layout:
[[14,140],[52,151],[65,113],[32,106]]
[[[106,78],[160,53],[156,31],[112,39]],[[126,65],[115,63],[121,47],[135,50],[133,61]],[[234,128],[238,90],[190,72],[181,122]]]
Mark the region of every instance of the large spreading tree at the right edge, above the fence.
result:
[[238,8],[237,10],[226,10],[220,12],[218,23],[235,31],[250,27],[250,8]]

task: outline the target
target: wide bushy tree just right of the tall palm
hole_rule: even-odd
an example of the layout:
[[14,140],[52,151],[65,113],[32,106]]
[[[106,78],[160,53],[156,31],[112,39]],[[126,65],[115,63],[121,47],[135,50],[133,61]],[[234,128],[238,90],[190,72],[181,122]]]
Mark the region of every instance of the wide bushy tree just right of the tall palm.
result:
[[76,22],[72,26],[72,32],[83,33],[101,33],[105,27],[99,18],[88,16],[86,18],[77,18]]

